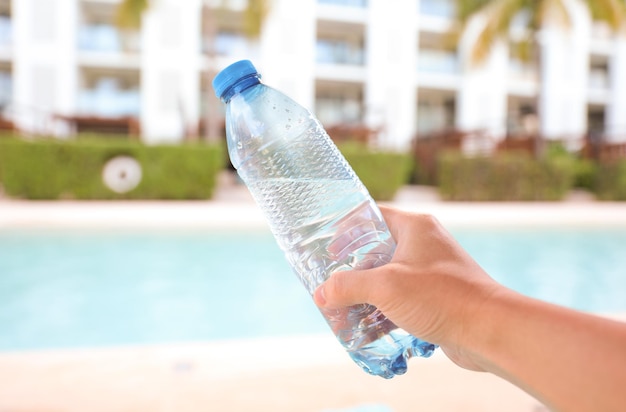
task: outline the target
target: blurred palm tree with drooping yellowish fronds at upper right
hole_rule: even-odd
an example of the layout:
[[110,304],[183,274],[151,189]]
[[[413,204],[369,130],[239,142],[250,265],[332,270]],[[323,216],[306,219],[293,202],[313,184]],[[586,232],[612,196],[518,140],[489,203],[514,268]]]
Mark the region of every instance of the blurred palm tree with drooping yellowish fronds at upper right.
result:
[[[571,27],[572,18],[568,0],[456,0],[457,15],[463,30],[476,16],[483,16],[484,24],[471,47],[471,64],[483,63],[495,44],[505,41],[511,44],[510,30],[516,20],[524,22],[525,38],[516,44],[518,55],[530,60],[541,83],[541,50],[538,35],[549,24],[558,24],[564,29]],[[603,21],[614,30],[624,27],[626,4],[624,0],[581,0],[594,20]],[[524,16],[524,19],[518,19]],[[538,90],[541,90],[539,88]],[[539,117],[540,92],[536,96],[536,115]],[[543,140],[537,135],[536,155],[543,154]]]

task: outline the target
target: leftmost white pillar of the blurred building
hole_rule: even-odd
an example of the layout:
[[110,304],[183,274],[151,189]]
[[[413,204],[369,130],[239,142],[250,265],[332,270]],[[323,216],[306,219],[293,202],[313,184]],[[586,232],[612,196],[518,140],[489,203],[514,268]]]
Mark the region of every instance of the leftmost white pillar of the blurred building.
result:
[[76,0],[18,0],[13,14],[13,104],[17,126],[27,132],[69,132],[55,115],[75,111]]

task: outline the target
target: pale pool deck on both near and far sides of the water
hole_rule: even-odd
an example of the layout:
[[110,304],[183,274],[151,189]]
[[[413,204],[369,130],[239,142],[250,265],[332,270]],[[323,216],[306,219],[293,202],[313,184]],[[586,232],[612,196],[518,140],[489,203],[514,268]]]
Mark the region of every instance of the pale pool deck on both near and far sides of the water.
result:
[[[245,187],[228,180],[197,202],[27,202],[0,197],[0,230],[267,228]],[[391,204],[444,225],[626,227],[626,203],[572,193],[557,203],[447,203],[407,187]],[[625,317],[619,316],[622,319]],[[386,381],[349,360],[330,333],[274,339],[0,353],[0,412],[402,411],[540,412],[509,383],[463,370],[438,351]]]

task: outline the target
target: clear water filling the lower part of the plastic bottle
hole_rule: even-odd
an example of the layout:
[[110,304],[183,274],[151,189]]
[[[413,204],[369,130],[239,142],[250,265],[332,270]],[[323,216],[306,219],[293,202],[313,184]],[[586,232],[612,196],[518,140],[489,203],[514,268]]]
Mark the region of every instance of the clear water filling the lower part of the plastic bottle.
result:
[[[335,271],[388,263],[395,242],[380,212],[352,180],[268,179],[249,183],[287,260],[309,293]],[[372,305],[323,310],[352,359],[386,378],[434,347],[399,329]],[[429,347],[424,347],[430,345]]]

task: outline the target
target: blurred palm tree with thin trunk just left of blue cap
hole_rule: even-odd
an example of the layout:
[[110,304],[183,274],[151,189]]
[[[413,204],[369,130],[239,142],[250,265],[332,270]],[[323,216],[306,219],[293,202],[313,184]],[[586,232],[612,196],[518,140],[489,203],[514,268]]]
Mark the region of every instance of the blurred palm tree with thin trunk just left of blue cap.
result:
[[[263,22],[269,12],[270,0],[248,0],[246,9],[242,14],[243,29],[250,39],[256,39],[263,30]],[[207,4],[211,3],[211,5]],[[217,3],[217,4],[216,4]],[[202,26],[203,36],[207,49],[206,55],[209,59],[208,69],[205,73],[207,84],[211,84],[215,77],[215,57],[216,51],[213,47],[215,38],[217,37],[216,21],[227,8],[228,0],[220,0],[218,2],[207,2],[202,0]],[[141,18],[144,12],[150,8],[150,0],[121,0],[117,7],[116,24],[123,30],[137,30],[141,28]],[[214,140],[221,133],[221,125],[219,121],[219,109],[217,100],[213,96],[210,89],[206,91],[206,113],[205,113],[205,138]]]

